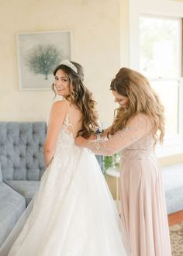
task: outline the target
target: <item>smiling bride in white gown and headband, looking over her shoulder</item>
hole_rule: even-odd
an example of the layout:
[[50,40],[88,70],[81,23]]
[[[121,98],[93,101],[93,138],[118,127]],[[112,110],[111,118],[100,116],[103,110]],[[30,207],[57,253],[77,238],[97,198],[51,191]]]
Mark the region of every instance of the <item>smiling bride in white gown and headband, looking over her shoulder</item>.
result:
[[76,136],[89,137],[98,125],[95,101],[83,84],[83,69],[63,61],[54,77],[54,91],[63,100],[54,102],[50,111],[44,145],[47,170],[0,255],[129,255],[116,205],[95,155],[74,144]]

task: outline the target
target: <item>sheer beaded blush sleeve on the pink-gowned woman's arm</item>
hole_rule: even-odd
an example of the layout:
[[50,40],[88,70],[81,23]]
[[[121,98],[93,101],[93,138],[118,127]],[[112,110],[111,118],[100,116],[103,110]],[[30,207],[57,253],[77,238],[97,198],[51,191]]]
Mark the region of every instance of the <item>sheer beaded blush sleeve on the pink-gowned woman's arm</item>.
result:
[[95,154],[112,155],[123,150],[136,140],[140,140],[147,132],[152,129],[152,123],[142,114],[133,117],[128,125],[116,132],[110,139],[88,140],[85,147]]

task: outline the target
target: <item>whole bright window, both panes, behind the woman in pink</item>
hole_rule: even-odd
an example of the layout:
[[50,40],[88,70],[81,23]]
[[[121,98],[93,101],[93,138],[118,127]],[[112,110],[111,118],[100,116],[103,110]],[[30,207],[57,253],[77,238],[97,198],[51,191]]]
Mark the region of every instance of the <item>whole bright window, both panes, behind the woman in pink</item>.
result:
[[140,16],[140,71],[165,107],[165,143],[182,140],[181,19]]

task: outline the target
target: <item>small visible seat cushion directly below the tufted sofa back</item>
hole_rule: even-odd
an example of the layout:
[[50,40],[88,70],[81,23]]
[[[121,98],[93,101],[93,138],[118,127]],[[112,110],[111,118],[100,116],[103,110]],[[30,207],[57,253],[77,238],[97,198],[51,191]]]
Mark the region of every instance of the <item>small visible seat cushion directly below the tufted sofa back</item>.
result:
[[12,189],[15,189],[26,199],[26,206],[33,198],[33,195],[39,189],[40,182],[37,181],[5,181]]

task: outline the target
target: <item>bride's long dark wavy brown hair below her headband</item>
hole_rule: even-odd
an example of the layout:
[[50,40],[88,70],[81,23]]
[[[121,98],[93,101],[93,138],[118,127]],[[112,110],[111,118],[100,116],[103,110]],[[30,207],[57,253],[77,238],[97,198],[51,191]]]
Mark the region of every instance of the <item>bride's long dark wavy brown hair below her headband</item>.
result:
[[[72,64],[77,68],[78,73],[74,72],[70,67],[64,64],[60,64],[54,70],[54,75],[58,70],[64,71],[69,79],[69,90],[70,95],[66,99],[71,102],[77,109],[82,113],[82,128],[78,132],[78,136],[89,137],[98,127],[98,113],[96,112],[96,102],[92,97],[91,92],[84,85],[84,71],[81,64],[71,61]],[[56,91],[54,84],[52,85],[55,95]]]

